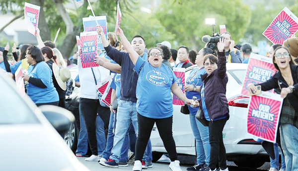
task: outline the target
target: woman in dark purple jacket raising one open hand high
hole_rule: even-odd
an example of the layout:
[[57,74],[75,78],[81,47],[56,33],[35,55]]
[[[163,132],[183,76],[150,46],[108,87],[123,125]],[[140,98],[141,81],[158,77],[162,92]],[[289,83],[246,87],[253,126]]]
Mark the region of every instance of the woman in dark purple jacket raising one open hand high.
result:
[[224,39],[218,43],[218,57],[208,54],[203,63],[207,73],[201,75],[200,108],[203,112],[202,119],[208,120],[210,160],[209,165],[201,171],[216,171],[219,163],[220,171],[228,171],[226,167],[223,129],[229,118],[226,92],[226,58],[224,55]]

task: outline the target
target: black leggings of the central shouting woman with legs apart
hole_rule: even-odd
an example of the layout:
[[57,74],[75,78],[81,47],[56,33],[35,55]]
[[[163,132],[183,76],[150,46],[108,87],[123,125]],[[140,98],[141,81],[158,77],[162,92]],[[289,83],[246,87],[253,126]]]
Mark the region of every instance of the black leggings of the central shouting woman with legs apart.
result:
[[136,160],[142,161],[151,131],[156,123],[158,133],[171,161],[177,160],[176,145],[172,133],[173,116],[167,118],[149,118],[138,113],[138,137],[136,141]]

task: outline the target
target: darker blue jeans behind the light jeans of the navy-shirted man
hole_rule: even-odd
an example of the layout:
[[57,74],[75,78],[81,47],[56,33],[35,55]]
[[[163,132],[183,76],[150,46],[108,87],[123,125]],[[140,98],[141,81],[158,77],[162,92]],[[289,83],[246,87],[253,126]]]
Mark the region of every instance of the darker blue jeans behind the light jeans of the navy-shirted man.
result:
[[[110,123],[109,123],[109,130],[108,130],[108,137],[107,137],[107,146],[103,151],[103,158],[108,160],[110,158],[110,156],[112,155],[111,150],[113,148],[113,142],[114,142],[114,133],[113,133],[113,125],[115,125],[114,123],[117,122],[116,118],[114,117],[114,115],[117,115],[117,112],[115,114],[111,113],[110,115]],[[114,120],[115,119],[115,120]],[[123,142],[123,146],[121,148],[121,154],[120,154],[120,159],[119,161],[121,162],[127,162],[128,161],[128,133],[126,133],[124,142]]]

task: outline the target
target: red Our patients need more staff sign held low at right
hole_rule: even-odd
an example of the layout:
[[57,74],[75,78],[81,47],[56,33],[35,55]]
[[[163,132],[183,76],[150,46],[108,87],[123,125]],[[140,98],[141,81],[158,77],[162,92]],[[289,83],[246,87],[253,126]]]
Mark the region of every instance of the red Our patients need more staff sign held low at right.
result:
[[248,105],[247,132],[275,143],[282,105],[279,94],[262,92],[252,96]]

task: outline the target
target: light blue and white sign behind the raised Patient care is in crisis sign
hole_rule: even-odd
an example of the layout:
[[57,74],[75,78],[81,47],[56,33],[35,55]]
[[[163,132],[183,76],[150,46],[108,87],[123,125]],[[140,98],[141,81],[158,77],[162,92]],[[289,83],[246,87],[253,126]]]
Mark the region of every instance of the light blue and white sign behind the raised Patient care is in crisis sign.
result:
[[[97,16],[96,20],[98,24],[103,28],[103,33],[105,35],[106,40],[108,40],[108,27],[107,27],[107,18],[106,16]],[[93,16],[83,18],[83,27],[84,31],[96,31],[96,22]],[[100,35],[97,34],[97,50],[104,50],[103,45],[101,43]]]

